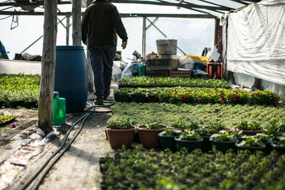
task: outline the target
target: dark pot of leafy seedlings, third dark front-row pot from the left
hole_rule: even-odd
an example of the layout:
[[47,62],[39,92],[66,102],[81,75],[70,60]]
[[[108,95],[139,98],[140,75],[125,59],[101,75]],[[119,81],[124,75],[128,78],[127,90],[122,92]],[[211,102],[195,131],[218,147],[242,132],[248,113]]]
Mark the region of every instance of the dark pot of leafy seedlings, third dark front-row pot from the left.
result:
[[226,153],[229,149],[234,149],[234,151],[237,149],[234,145],[238,142],[237,138],[225,130],[212,134],[209,140],[212,141],[212,147],[216,147],[217,150],[223,153]]

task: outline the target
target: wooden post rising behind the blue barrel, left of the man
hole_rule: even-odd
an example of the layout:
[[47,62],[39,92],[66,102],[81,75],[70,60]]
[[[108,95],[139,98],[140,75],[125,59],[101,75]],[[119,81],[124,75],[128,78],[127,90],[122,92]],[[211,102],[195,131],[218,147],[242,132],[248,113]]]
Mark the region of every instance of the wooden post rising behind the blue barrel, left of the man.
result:
[[81,0],[72,3],[73,46],[81,46]]

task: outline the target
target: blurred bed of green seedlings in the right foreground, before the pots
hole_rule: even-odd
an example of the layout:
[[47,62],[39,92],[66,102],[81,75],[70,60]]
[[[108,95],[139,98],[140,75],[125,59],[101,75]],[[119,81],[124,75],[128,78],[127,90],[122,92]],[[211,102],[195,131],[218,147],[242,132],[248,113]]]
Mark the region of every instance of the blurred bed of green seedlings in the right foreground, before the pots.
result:
[[101,164],[109,189],[284,189],[285,155],[125,149]]

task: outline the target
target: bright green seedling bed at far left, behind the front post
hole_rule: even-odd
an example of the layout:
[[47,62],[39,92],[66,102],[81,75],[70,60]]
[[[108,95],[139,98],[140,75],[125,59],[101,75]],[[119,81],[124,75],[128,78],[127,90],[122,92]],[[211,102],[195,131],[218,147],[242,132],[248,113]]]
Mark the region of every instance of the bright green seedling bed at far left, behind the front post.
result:
[[40,75],[0,75],[0,107],[37,107]]

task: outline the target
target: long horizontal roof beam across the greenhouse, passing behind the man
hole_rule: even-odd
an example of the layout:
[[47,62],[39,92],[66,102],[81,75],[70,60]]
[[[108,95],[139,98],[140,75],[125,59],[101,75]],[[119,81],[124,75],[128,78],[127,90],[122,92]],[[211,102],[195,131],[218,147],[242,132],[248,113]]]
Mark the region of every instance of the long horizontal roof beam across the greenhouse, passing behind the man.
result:
[[[19,11],[17,15],[43,16],[43,12]],[[0,15],[14,15],[14,11],[0,11]],[[58,16],[71,16],[71,12],[60,12]],[[165,18],[188,18],[188,19],[215,19],[217,16],[210,14],[120,14],[121,18],[128,17],[165,17]]]

